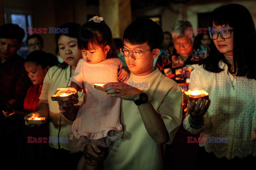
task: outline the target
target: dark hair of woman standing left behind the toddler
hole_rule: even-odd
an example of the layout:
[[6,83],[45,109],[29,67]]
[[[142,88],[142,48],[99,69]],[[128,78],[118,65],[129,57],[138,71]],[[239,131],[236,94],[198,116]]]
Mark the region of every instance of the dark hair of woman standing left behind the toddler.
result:
[[[78,23],[75,23],[75,22],[68,22],[68,23],[61,25],[59,28],[66,29],[67,31],[62,31],[61,33],[55,33],[55,42],[56,42],[57,48],[58,48],[59,38],[62,35],[78,39],[78,32],[79,32],[79,29],[81,28],[81,25]],[[60,67],[62,69],[66,69],[68,67],[68,64],[63,62],[63,63],[59,64],[58,67]]]

